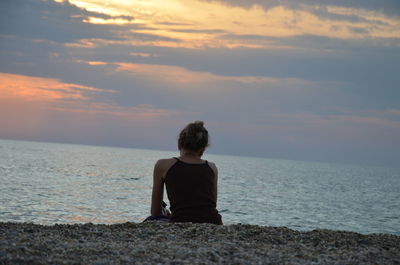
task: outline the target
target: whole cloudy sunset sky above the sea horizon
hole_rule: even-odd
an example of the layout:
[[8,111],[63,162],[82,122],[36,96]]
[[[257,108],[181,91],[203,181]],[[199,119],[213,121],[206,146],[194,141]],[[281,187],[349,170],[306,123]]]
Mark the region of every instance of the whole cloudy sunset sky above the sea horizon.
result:
[[400,165],[398,0],[1,0],[0,138]]

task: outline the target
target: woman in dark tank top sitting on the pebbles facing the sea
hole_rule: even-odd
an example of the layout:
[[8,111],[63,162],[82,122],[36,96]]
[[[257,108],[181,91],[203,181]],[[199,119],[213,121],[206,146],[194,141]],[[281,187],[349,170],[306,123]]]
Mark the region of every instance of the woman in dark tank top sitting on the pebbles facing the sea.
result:
[[[201,159],[208,145],[204,123],[195,121],[179,134],[180,156],[157,161],[153,174],[150,220],[168,216],[171,222],[222,224],[221,215],[216,209],[217,167]],[[162,205],[164,184],[171,213]]]

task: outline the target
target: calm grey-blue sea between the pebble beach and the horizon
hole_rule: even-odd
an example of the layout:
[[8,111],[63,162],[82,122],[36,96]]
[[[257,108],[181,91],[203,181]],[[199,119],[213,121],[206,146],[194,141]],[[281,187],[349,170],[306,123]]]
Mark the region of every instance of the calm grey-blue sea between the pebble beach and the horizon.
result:
[[[141,222],[177,152],[0,140],[0,221]],[[400,170],[206,154],[225,224],[400,235]],[[167,201],[166,195],[164,200]]]

